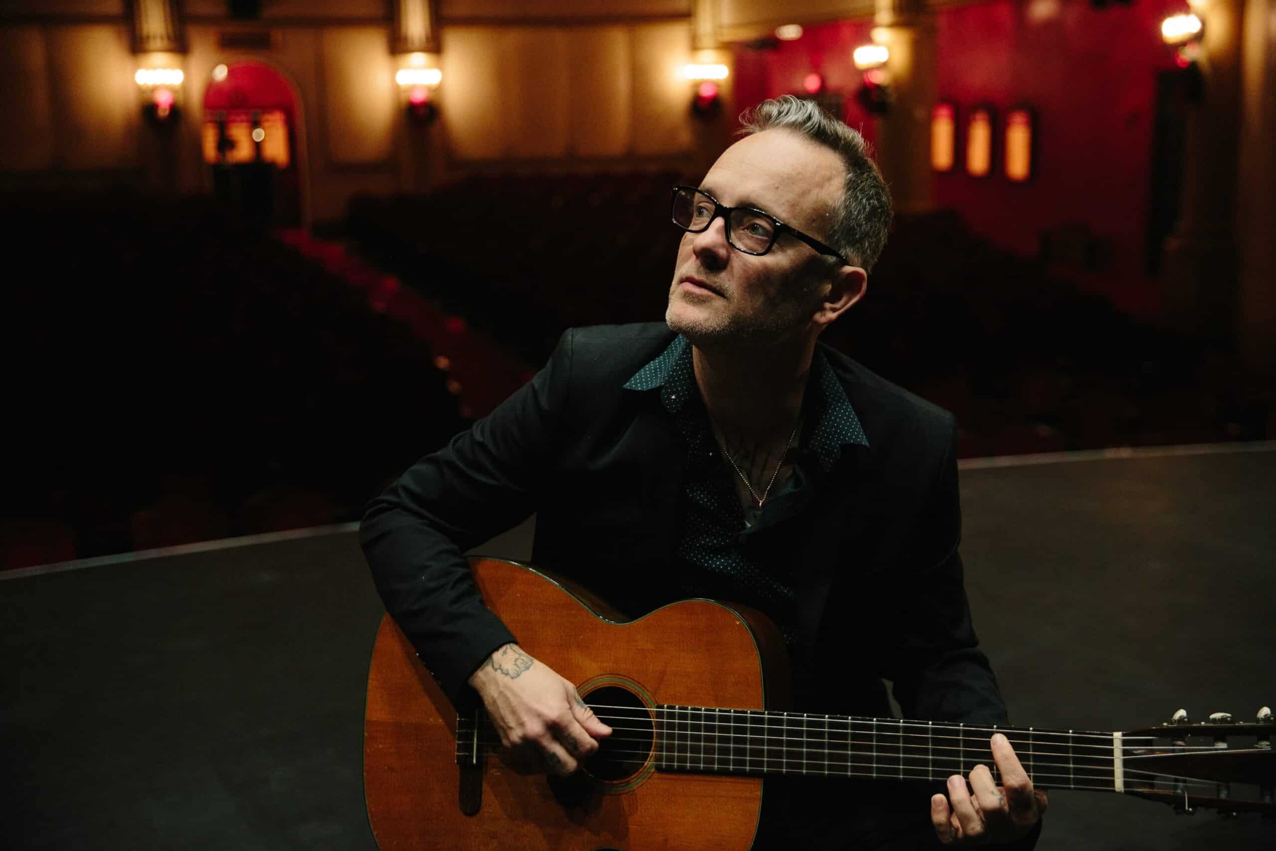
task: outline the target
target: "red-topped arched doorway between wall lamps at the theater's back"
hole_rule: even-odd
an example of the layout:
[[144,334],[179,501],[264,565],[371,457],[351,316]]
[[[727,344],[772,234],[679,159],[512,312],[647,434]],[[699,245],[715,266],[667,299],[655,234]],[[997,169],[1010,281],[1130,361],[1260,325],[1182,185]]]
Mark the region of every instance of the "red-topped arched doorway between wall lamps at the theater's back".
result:
[[264,226],[305,225],[304,129],[300,98],[277,69],[255,60],[214,66],[202,129],[214,194]]

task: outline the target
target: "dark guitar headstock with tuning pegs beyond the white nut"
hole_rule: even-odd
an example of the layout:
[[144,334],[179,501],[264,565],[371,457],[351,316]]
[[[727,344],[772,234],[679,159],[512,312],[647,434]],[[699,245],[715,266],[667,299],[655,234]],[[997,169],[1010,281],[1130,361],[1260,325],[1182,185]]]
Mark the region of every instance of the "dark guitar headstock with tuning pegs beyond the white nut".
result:
[[1187,709],[1155,727],[1122,734],[1128,795],[1169,804],[1183,815],[1197,808],[1230,818],[1261,813],[1276,819],[1276,718],[1263,707],[1254,721],[1215,712],[1193,722]]

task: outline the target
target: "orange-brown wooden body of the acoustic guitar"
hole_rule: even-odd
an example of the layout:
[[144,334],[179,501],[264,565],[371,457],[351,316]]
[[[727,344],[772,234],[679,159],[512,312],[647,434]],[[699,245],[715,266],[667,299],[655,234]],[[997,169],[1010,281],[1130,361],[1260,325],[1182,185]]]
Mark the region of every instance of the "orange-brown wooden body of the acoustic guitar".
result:
[[[519,646],[591,693],[620,692],[647,706],[766,707],[772,643],[745,610],[685,601],[616,623],[597,601],[508,561],[473,561],[484,600]],[[578,593],[581,596],[578,596]],[[772,671],[773,679],[787,671]],[[785,685],[787,688],[787,685]],[[598,689],[607,689],[600,692]],[[776,689],[778,693],[778,689]],[[615,726],[615,725],[612,725]],[[762,804],[758,777],[653,771],[643,754],[633,773],[568,788],[519,774],[487,753],[458,764],[458,717],[387,616],[373,652],[364,730],[367,815],[382,851],[501,848],[592,851],[753,845]],[[473,726],[462,730],[463,741]],[[462,786],[470,809],[462,811]]]

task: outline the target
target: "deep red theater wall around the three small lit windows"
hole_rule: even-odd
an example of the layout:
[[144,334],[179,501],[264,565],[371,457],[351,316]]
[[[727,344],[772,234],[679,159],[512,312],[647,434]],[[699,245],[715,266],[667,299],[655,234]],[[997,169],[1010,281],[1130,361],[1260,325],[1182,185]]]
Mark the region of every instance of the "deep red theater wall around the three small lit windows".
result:
[[[1145,272],[1148,157],[1156,75],[1174,69],[1160,22],[1178,5],[1139,0],[1095,9],[1085,0],[997,0],[937,13],[938,93],[958,106],[958,126],[980,102],[997,106],[999,120],[1020,103],[1037,115],[1031,181],[1008,181],[998,149],[993,177],[976,180],[960,168],[938,175],[938,204],[1021,254],[1037,253],[1042,231],[1085,223],[1101,245],[1101,267],[1062,273],[1124,309],[1154,313],[1157,285]],[[851,96],[857,74],[850,63],[870,28],[869,19],[818,24],[772,51],[739,48],[740,106],[800,92],[803,77],[815,70],[829,89],[847,92],[847,121],[872,129],[872,117]],[[963,142],[958,130],[958,145]],[[962,162],[961,147],[957,154]]]

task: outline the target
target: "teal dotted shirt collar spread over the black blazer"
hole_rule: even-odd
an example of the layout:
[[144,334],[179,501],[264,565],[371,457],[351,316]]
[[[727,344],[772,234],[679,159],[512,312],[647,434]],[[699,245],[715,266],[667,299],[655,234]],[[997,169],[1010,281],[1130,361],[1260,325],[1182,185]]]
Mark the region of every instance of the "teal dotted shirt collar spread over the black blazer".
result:
[[[692,346],[681,334],[624,384],[627,390],[656,388],[660,388],[660,401],[670,413],[681,411],[688,399],[699,392],[692,367]],[[828,472],[841,457],[843,445],[868,448],[869,439],[851,401],[846,398],[842,383],[837,380],[828,357],[819,348],[812,360],[806,390],[808,412],[818,412],[814,427],[808,427],[810,436],[806,447],[819,459],[824,472]]]

